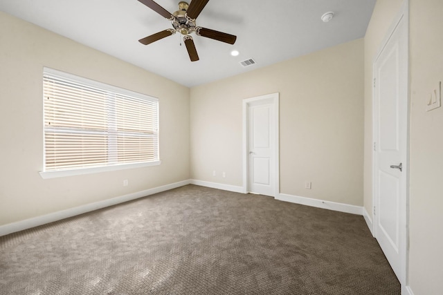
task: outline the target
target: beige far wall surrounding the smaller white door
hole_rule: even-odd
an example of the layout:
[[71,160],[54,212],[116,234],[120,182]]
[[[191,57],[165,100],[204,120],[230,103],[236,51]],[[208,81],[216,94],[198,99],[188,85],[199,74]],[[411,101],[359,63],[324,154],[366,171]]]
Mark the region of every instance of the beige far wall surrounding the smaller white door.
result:
[[280,193],[362,206],[363,39],[191,88],[192,178],[242,186],[242,99],[275,92]]

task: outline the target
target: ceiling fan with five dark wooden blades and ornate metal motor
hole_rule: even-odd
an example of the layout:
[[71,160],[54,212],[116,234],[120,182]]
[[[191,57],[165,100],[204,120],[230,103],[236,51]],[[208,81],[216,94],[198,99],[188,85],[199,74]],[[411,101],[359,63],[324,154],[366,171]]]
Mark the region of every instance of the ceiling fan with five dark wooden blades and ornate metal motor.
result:
[[234,35],[226,34],[225,32],[218,32],[208,28],[201,28],[196,25],[195,19],[197,19],[197,17],[200,15],[201,10],[203,10],[209,0],[192,0],[190,4],[185,1],[180,1],[179,10],[173,14],[152,0],[138,1],[145,4],[145,6],[151,8],[172,23],[172,29],[170,28],[162,30],[161,32],[156,32],[153,35],[138,40],[141,44],[151,44],[170,35],[174,35],[176,32],[180,32],[181,35],[183,35],[183,41],[185,42],[191,61],[197,61],[199,60],[199,55],[197,54],[194,40],[192,39],[192,36],[190,36],[192,32],[195,32],[195,34],[198,36],[222,41],[228,44],[234,44],[235,40],[237,39],[237,37]]

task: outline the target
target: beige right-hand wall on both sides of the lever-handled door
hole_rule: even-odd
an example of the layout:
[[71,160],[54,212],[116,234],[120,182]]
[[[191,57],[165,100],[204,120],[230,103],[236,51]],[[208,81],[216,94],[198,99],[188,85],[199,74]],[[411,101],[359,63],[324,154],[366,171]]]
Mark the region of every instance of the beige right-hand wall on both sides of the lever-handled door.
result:
[[[372,215],[372,61],[402,0],[379,0],[365,36],[365,209]],[[443,108],[426,113],[443,80],[443,2],[409,0],[410,191],[408,285],[415,295],[441,294],[443,276]]]

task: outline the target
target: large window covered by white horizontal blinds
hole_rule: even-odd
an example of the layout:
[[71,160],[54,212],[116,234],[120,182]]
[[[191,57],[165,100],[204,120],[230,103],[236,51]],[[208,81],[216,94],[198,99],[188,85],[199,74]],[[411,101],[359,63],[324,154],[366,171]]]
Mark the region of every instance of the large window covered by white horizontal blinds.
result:
[[158,99],[50,68],[43,88],[44,178],[159,164]]

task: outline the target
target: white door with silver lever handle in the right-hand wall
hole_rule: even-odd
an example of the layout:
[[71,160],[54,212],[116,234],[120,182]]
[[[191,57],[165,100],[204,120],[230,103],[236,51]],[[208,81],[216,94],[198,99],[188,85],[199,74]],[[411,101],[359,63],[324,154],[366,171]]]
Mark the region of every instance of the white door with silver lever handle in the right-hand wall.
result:
[[406,276],[408,35],[401,17],[374,62],[374,234],[403,285]]

